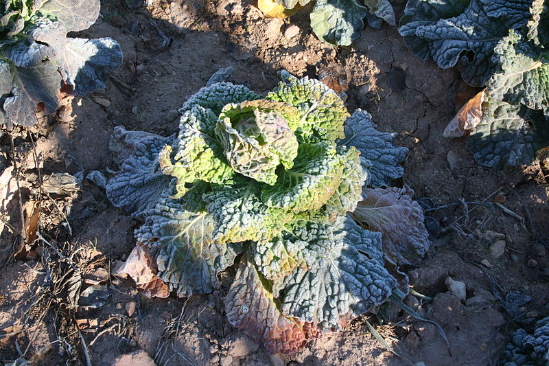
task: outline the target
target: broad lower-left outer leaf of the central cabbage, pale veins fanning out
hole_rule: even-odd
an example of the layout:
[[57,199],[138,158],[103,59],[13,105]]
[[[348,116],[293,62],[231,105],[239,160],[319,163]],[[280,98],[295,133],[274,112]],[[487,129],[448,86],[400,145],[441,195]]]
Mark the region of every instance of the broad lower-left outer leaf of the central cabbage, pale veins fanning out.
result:
[[145,223],[135,236],[156,254],[159,278],[170,290],[176,289],[180,297],[211,293],[220,286],[218,273],[233,264],[242,247],[215,241],[213,216],[185,211],[182,205],[166,198],[145,211]]

